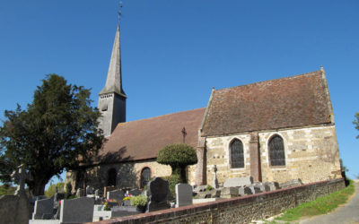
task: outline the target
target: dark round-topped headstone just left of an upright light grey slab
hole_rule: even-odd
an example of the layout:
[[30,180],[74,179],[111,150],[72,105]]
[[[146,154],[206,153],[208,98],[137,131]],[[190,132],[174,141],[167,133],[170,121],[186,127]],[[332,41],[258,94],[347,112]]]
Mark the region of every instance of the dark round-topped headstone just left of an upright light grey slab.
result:
[[150,202],[148,202],[146,211],[160,211],[171,208],[170,203],[167,202],[167,196],[170,192],[168,181],[161,177],[155,177],[147,185],[147,195]]

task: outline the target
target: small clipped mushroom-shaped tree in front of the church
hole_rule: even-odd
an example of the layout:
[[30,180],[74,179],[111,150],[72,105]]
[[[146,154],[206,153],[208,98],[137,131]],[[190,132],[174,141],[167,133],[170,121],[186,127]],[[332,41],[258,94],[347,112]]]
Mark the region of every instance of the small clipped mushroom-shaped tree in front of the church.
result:
[[157,162],[170,165],[172,175],[179,175],[180,183],[187,183],[186,167],[197,163],[197,154],[188,144],[170,144],[158,152]]

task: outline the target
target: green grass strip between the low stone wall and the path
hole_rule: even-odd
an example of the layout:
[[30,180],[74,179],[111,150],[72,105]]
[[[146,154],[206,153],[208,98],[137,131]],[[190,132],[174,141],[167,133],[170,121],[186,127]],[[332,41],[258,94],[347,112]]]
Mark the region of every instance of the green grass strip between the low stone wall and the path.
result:
[[332,194],[328,194],[327,196],[319,197],[312,202],[302,203],[293,209],[285,211],[282,216],[269,223],[278,223],[276,220],[283,223],[287,221],[300,220],[303,217],[326,214],[329,211],[335,210],[340,204],[346,203],[349,197],[354,193],[354,182],[350,180],[349,185],[347,185],[346,188]]

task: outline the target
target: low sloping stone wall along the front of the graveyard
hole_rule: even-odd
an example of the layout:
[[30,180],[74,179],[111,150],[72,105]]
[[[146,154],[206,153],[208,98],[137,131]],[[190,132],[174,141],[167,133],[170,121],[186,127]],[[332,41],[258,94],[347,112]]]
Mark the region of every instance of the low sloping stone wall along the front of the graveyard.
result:
[[273,192],[153,211],[96,223],[249,223],[291,209],[302,202],[343,189],[343,179],[321,181]]

